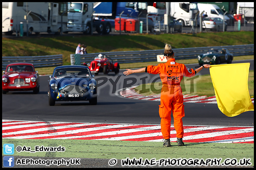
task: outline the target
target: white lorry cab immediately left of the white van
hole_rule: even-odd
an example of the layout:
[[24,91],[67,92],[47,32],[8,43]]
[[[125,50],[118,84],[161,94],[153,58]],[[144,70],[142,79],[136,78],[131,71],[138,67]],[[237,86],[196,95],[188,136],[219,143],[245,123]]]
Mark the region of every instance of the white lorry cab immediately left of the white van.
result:
[[170,2],[170,13],[182,26],[191,26],[198,12],[197,2]]

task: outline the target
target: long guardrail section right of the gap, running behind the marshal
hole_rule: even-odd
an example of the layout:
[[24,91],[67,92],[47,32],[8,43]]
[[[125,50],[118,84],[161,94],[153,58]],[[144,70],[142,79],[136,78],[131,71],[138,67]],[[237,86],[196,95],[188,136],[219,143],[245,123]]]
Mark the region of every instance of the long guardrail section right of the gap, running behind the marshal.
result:
[[[173,49],[176,60],[193,59],[198,55],[207,52],[209,48],[223,47],[229,50],[234,56],[254,55],[254,44],[249,45],[231,45],[231,46],[210,46],[210,47],[192,47]],[[100,52],[110,57],[113,62],[118,63],[136,63],[157,61],[156,56],[164,54],[164,50],[146,50],[146,51],[122,51],[122,52]],[[94,57],[100,53],[83,54],[81,56],[81,64],[89,63]],[[74,61],[74,54],[70,54],[70,60]],[[71,62],[72,63],[72,62]],[[74,62],[73,62],[74,63]]]

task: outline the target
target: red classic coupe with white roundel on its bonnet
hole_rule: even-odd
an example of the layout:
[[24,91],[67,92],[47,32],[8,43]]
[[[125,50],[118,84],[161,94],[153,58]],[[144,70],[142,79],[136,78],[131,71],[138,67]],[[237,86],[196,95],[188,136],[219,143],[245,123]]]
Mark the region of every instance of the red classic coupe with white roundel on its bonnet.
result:
[[8,91],[39,92],[39,75],[31,63],[8,64],[2,75],[2,94]]

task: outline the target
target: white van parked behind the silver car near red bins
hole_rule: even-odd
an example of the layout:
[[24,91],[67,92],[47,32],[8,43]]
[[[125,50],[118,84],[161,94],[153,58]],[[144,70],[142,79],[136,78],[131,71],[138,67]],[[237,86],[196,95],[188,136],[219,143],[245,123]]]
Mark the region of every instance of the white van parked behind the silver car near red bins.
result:
[[224,19],[224,12],[222,11],[222,9],[215,4],[201,4],[198,3],[197,4],[199,13],[201,14],[204,11],[204,14],[207,13],[208,17],[213,17],[213,18],[221,18],[223,20],[225,20],[225,22],[229,25],[230,24],[230,18],[228,17],[228,13],[226,13],[225,15],[225,19]]

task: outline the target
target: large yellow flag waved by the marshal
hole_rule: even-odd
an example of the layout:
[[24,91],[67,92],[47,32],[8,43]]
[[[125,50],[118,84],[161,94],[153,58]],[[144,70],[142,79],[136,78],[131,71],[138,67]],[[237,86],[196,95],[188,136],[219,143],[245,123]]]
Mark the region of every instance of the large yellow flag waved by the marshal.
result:
[[250,63],[211,65],[218,108],[228,117],[254,111],[248,90],[249,67]]

